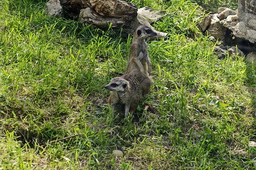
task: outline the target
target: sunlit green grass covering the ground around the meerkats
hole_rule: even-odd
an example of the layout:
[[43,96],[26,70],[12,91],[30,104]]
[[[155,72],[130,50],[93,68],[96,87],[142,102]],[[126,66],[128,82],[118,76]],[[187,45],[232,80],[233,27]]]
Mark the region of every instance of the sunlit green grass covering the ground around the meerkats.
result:
[[47,18],[46,2],[0,0],[1,169],[255,168],[255,66],[217,58],[196,3],[132,2],[166,10],[154,27],[168,36],[148,42],[155,113],[140,103],[126,122],[101,103],[132,36]]

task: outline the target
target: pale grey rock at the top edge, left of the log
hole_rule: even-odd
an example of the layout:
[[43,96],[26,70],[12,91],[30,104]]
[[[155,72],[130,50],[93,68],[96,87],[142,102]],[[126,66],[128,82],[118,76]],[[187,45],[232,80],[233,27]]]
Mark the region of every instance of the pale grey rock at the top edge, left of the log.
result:
[[44,8],[44,14],[51,17],[61,17],[62,7],[59,0],[49,0]]

